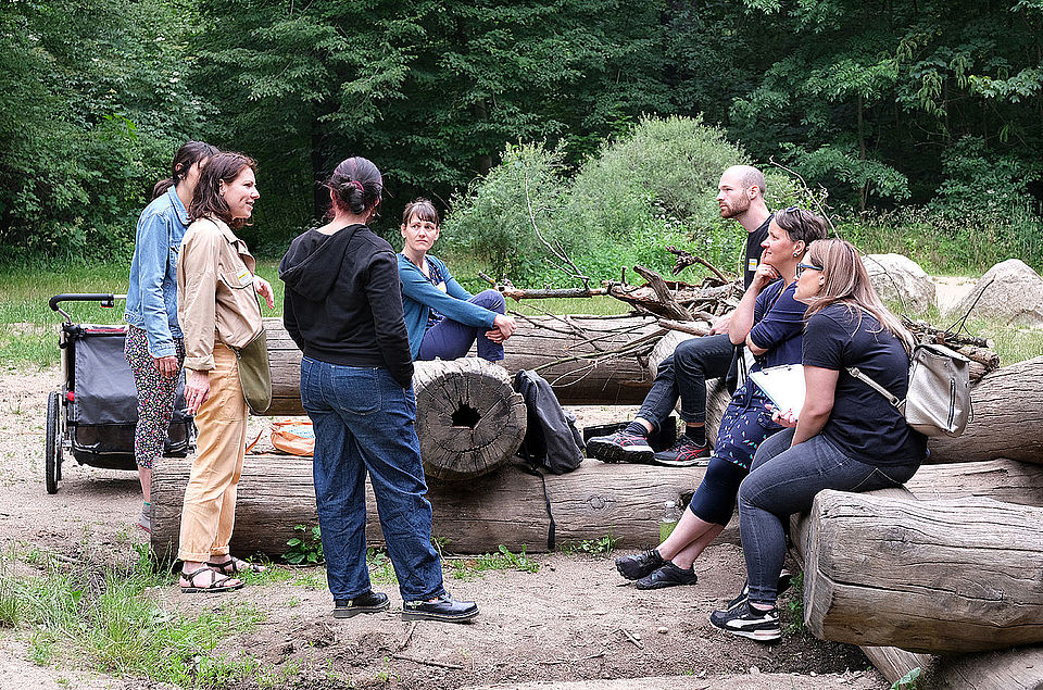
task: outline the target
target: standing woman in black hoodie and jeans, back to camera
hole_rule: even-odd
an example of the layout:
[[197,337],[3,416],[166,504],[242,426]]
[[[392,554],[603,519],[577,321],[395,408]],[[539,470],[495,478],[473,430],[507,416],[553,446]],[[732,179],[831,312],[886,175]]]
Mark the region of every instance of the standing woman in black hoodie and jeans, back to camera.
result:
[[286,329],[304,353],[301,401],[315,430],[315,501],[334,616],[385,611],[369,588],[365,479],[402,594],[402,617],[466,620],[474,602],[442,585],[414,419],[413,360],[394,250],[366,227],[384,191],[364,158],[327,185],[332,219],[290,244],[279,265]]

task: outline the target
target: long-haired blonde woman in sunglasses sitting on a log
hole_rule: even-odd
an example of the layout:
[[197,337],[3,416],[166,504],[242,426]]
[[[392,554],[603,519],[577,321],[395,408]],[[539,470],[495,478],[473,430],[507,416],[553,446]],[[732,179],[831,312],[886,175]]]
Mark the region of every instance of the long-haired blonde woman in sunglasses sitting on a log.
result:
[[804,379],[799,414],[775,411],[787,427],[757,450],[739,489],[747,585],[716,611],[718,628],[759,641],[778,639],[779,573],[786,559],[783,520],[812,507],[822,489],[870,491],[908,480],[927,456],[887,398],[849,374],[857,367],[899,398],[909,385],[913,337],[869,283],[858,250],[828,239],[800,264],[796,299],[807,304]]

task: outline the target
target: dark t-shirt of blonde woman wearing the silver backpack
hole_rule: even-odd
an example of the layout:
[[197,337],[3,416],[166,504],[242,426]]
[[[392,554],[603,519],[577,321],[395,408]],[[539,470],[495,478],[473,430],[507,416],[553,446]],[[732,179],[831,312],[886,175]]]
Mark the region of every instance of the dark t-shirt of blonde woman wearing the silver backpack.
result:
[[840,372],[833,410],[821,432],[844,454],[878,466],[923,460],[927,439],[908,427],[887,398],[846,371],[857,366],[899,398],[908,391],[905,348],[871,314],[831,304],[812,316],[804,334],[804,365]]

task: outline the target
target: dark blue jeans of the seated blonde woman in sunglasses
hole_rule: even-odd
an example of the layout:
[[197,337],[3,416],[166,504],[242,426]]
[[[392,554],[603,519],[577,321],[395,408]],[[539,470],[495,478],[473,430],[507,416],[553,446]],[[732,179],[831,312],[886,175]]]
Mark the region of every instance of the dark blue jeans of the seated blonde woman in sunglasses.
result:
[[739,528],[750,578],[750,601],[775,604],[786,560],[783,520],[804,513],[822,489],[872,491],[901,486],[919,463],[880,467],[853,460],[819,435],[790,448],[795,429],[764,441],[739,487]]

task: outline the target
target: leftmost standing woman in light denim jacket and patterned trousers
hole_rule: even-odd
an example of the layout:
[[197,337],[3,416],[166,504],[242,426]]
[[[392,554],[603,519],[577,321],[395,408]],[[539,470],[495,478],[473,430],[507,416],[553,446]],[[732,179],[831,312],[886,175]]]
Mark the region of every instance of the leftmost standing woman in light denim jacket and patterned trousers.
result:
[[138,218],[127,287],[125,354],[138,393],[138,425],[134,457],[144,503],[138,525],[152,531],[152,463],[163,451],[178,374],[185,360],[185,341],[177,323],[177,252],[188,229],[188,204],[199,172],[217,149],[187,141],[174,154],[171,176],[152,189],[152,203]]

